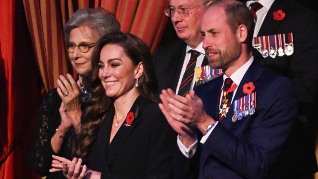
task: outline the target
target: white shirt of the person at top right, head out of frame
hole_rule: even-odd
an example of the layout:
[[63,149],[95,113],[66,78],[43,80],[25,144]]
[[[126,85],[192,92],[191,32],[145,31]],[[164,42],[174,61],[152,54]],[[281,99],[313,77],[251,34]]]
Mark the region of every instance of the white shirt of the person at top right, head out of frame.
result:
[[[253,34],[253,37],[257,37],[257,34],[259,32],[259,29],[261,27],[261,25],[263,24],[264,22],[264,19],[266,17],[266,14],[269,10],[269,8],[272,6],[273,2],[275,0],[259,0],[259,4],[262,4],[262,8],[259,9],[258,11],[256,11],[256,17],[257,17],[257,21],[256,21],[256,24],[255,24],[255,27],[254,27],[254,34]],[[252,3],[255,3],[255,1],[247,1],[246,2],[246,6],[251,10],[251,4]],[[274,17],[274,15],[273,15]],[[274,35],[274,34],[269,34],[269,35]]]

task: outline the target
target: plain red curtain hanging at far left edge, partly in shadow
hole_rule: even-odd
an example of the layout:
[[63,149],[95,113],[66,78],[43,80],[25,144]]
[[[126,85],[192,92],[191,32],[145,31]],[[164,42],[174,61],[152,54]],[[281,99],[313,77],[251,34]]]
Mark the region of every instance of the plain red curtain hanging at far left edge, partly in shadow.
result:
[[0,178],[36,177],[26,157],[40,93],[22,0],[0,3]]

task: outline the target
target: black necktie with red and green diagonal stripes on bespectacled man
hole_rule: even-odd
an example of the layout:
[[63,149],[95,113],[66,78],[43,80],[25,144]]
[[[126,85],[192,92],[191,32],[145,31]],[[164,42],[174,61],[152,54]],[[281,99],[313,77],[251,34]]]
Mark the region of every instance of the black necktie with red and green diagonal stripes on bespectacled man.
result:
[[187,68],[183,74],[182,81],[179,87],[178,95],[185,96],[189,93],[191,82],[193,80],[194,68],[196,67],[197,57],[200,55],[200,52],[195,50],[189,50],[191,52],[190,61],[187,65]]

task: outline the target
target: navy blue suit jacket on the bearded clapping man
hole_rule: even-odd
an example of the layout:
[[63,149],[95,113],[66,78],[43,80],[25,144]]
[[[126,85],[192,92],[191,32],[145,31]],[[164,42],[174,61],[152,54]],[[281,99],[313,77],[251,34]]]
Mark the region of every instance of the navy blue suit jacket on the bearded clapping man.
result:
[[[255,86],[255,114],[233,123],[232,104],[194,158],[187,159],[177,150],[176,178],[279,178],[276,167],[297,115],[295,90],[288,78],[253,61],[233,101],[246,96],[243,85],[248,82]],[[213,119],[218,119],[222,84],[219,77],[195,89]]]

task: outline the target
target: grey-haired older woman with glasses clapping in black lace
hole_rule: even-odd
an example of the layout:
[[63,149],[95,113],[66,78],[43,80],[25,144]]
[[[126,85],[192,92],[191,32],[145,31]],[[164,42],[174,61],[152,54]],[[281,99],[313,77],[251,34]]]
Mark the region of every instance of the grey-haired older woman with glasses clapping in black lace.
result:
[[39,175],[47,179],[64,178],[62,172],[50,173],[52,154],[71,158],[70,133],[80,131],[82,105],[90,93],[81,87],[82,79],[92,69],[92,53],[96,41],[104,34],[120,32],[120,24],[103,8],[79,9],[64,27],[66,49],[71,64],[78,73],[75,82],[72,75],[60,75],[59,88],[43,98],[38,118],[34,145],[29,161]]

